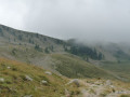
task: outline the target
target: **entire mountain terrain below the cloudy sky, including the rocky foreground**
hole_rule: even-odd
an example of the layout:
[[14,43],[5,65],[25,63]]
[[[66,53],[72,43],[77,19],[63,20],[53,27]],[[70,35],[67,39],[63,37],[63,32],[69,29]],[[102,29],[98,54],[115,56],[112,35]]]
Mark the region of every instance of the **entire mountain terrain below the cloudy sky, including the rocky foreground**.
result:
[[1,25],[0,69],[2,97],[130,94],[130,53],[121,44],[88,45]]

